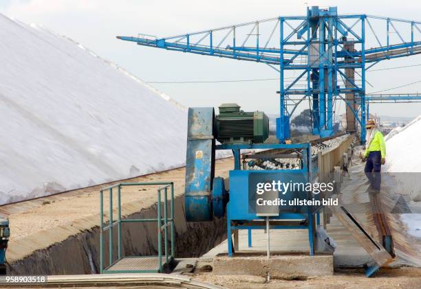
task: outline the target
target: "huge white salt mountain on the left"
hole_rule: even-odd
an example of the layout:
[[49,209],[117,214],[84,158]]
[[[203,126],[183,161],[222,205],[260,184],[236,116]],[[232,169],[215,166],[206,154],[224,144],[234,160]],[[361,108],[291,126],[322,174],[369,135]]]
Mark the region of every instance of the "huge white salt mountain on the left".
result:
[[0,203],[184,163],[180,104],[43,27],[0,26]]

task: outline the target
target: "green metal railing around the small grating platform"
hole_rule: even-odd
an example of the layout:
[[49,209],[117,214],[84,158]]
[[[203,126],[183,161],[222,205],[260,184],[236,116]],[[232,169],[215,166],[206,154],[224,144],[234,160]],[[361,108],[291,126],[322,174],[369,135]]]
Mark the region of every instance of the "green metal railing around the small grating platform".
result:
[[[144,185],[162,185],[163,187],[158,188],[158,198],[157,198],[157,218],[145,218],[145,219],[122,219],[121,216],[121,189],[125,186],[144,186]],[[168,192],[170,190],[170,192]],[[109,194],[109,222],[104,223],[104,193],[108,191]],[[117,193],[117,220],[113,218],[113,193]],[[163,194],[163,199],[161,198]],[[168,211],[168,194],[170,194],[170,212]],[[163,204],[163,216],[162,216],[162,204]],[[169,216],[170,215],[170,216]],[[104,187],[100,189],[100,273],[112,273],[112,270],[108,270],[111,266],[120,261],[122,257],[122,246],[121,246],[121,229],[123,223],[133,223],[133,222],[157,222],[158,226],[158,271],[162,273],[162,237],[164,237],[164,256],[165,264],[168,264],[171,259],[174,259],[175,253],[175,227],[174,227],[174,184],[173,182],[148,182],[148,183],[118,183],[116,185],[111,185],[109,187]],[[117,259],[114,260],[113,250],[113,227],[117,226],[118,228],[118,244],[117,244]],[[168,248],[168,227],[171,227],[171,255],[169,255]],[[109,230],[109,266],[104,268],[104,233]],[[162,231],[164,231],[164,236],[162,236]],[[127,256],[126,256],[127,257]],[[152,272],[153,270],[144,270],[144,272]],[[132,272],[132,270],[131,270]],[[136,271],[140,273],[139,271]],[[121,273],[121,272],[120,272]]]

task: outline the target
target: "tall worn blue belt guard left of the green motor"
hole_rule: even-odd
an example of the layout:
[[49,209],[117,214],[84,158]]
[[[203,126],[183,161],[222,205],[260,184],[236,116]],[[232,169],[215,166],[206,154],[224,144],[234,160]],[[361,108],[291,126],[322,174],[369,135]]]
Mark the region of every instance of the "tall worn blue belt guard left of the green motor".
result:
[[185,211],[189,222],[212,220],[215,167],[213,108],[189,108],[186,153]]

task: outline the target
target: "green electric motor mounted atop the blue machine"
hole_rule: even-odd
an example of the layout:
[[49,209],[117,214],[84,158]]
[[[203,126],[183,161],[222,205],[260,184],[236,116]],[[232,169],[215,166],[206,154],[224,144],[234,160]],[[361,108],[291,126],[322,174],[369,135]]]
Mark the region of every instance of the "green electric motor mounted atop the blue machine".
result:
[[261,111],[241,111],[238,104],[222,104],[216,116],[216,139],[224,144],[263,143],[269,135],[269,118]]

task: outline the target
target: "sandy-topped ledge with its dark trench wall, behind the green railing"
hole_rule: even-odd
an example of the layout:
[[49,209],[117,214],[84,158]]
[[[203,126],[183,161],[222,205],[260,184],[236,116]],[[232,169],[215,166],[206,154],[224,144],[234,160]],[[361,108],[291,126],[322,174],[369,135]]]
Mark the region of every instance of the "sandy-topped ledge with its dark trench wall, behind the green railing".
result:
[[[221,175],[227,174],[232,163],[233,160],[229,158],[218,160],[217,172]],[[184,177],[184,167],[180,167],[126,181],[174,182],[175,256],[199,257],[226,239],[225,220],[186,222]],[[107,185],[109,184],[1,206],[0,215],[9,218],[12,232],[7,254],[8,273],[12,275],[98,273],[99,190]],[[123,218],[156,218],[156,200],[155,187],[127,188],[127,191],[122,192]],[[124,224],[122,254],[157,255],[157,238],[156,223]],[[105,241],[107,248],[107,239]],[[107,258],[106,253],[105,259]]]

